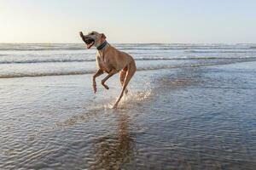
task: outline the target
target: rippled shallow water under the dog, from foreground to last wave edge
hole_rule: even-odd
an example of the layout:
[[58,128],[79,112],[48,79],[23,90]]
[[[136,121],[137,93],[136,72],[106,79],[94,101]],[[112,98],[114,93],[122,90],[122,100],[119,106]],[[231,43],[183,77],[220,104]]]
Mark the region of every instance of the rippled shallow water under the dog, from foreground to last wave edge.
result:
[[117,111],[117,79],[2,80],[1,168],[253,169],[255,64],[139,72]]

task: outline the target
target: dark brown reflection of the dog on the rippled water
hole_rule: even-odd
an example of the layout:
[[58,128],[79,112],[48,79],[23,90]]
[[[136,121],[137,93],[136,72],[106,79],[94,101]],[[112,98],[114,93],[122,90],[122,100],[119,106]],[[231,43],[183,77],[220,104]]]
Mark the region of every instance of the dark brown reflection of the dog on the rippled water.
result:
[[135,136],[129,132],[129,116],[117,113],[116,133],[108,133],[96,139],[95,161],[90,169],[120,169],[135,156]]

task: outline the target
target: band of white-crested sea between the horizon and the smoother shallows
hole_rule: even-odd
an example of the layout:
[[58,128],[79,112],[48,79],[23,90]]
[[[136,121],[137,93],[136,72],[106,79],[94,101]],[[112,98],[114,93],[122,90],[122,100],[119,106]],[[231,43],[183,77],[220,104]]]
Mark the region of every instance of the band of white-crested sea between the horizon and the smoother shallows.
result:
[[[139,71],[256,59],[256,44],[113,44]],[[83,44],[0,44],[0,78],[91,74],[96,50]]]

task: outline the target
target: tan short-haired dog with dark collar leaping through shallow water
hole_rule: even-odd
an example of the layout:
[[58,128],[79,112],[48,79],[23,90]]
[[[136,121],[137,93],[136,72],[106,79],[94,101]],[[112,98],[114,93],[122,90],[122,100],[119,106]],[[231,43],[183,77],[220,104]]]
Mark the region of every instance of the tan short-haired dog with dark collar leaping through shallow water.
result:
[[119,98],[116,100],[113,108],[117,108],[120,99],[125,94],[128,93],[127,85],[133,77],[134,73],[137,71],[135,60],[130,54],[119,51],[118,49],[111,46],[106,41],[106,36],[103,33],[98,33],[96,31],[89,32],[84,36],[83,32],[80,31],[80,37],[85,42],[87,48],[96,47],[96,65],[98,70],[92,76],[92,88],[96,94],[96,77],[101,76],[104,72],[108,73],[108,76],[102,79],[102,86],[109,89],[105,82],[108,78],[112,77],[114,74],[119,72],[119,80],[122,85],[121,93]]

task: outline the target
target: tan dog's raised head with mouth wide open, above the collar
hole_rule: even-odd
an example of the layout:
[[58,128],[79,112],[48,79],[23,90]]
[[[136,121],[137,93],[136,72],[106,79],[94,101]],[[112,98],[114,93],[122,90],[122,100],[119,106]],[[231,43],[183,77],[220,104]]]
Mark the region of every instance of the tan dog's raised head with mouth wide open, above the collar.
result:
[[83,32],[80,31],[80,37],[82,37],[83,41],[86,43],[87,48],[91,48],[92,46],[99,47],[106,39],[103,33],[96,31],[91,31],[85,36]]

